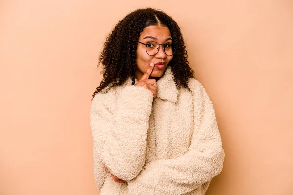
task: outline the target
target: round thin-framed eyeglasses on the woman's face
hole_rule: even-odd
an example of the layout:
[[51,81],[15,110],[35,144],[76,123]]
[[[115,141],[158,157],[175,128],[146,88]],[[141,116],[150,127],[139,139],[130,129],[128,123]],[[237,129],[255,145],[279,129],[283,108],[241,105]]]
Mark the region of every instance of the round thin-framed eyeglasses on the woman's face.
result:
[[164,52],[167,56],[172,56],[175,53],[175,50],[174,51],[172,50],[172,42],[167,42],[162,44],[159,44],[154,41],[148,42],[146,44],[142,42],[139,42],[139,43],[146,45],[146,53],[150,56],[155,56],[159,52],[160,45],[163,45]]

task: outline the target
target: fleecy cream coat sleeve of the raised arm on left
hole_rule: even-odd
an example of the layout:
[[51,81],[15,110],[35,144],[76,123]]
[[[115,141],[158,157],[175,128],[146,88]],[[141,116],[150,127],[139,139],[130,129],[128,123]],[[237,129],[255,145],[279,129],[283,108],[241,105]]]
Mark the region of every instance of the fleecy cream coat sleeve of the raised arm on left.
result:
[[[145,163],[153,94],[133,85],[122,88],[117,97],[116,94],[110,91],[98,93],[91,104],[94,172],[98,188],[105,179],[103,164],[111,174],[127,181],[135,178]],[[109,106],[109,102],[115,106]]]

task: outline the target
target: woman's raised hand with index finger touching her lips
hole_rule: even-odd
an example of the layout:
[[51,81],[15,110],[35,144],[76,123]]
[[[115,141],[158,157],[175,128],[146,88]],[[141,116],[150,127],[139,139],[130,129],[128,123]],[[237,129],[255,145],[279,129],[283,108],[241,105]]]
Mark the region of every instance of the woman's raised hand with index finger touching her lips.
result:
[[153,98],[156,98],[157,95],[157,81],[155,79],[148,79],[152,70],[154,69],[154,63],[150,63],[146,72],[142,76],[142,78],[135,84],[135,86],[141,86],[153,93]]

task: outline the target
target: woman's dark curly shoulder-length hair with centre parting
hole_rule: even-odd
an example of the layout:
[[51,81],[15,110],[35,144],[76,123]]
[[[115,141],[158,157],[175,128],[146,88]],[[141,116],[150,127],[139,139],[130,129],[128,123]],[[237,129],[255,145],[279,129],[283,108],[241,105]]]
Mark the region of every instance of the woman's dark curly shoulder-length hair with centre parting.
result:
[[107,93],[110,88],[122,85],[129,77],[132,78],[132,85],[135,84],[137,41],[144,28],[152,25],[169,28],[172,48],[176,52],[168,66],[171,66],[176,86],[190,90],[188,79],[194,78],[194,74],[189,66],[186,46],[178,24],[163,11],[146,8],[128,14],[107,37],[99,57],[99,64],[103,66],[103,79],[93,98],[99,92]]

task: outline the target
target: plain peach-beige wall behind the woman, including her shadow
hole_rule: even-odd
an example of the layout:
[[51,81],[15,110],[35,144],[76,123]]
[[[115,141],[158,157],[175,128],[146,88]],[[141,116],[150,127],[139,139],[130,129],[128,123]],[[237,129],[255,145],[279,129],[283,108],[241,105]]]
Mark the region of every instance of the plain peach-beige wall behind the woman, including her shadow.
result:
[[89,126],[106,35],[152,6],[181,26],[226,159],[207,195],[293,195],[293,1],[0,0],[0,195],[98,195]]

